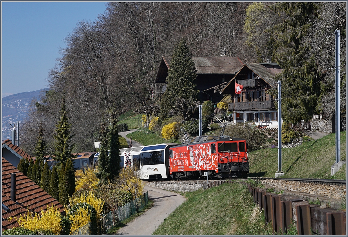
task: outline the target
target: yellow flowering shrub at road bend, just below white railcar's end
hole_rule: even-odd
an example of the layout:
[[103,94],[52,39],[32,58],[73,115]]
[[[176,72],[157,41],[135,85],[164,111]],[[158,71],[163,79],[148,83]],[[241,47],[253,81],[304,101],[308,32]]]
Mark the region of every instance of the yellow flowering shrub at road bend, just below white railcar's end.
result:
[[121,180],[122,189],[130,191],[133,199],[140,197],[140,195],[143,193],[144,184],[137,176],[137,172],[134,172],[133,169],[126,168],[122,170],[119,175],[119,179]]

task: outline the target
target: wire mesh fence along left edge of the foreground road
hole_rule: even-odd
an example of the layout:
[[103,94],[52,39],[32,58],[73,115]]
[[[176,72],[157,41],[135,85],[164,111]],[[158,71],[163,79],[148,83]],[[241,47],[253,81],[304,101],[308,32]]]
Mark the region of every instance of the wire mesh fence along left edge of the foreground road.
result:
[[[148,204],[148,192],[142,194],[140,197],[136,198],[130,203],[127,203],[124,206],[119,207],[116,210],[110,211],[108,214],[104,215],[100,219],[100,229],[103,234],[106,230],[113,227],[116,222],[121,222],[127,219],[129,216],[140,212]],[[91,223],[88,222],[84,226],[81,226],[79,229],[75,230],[72,235],[90,235]]]

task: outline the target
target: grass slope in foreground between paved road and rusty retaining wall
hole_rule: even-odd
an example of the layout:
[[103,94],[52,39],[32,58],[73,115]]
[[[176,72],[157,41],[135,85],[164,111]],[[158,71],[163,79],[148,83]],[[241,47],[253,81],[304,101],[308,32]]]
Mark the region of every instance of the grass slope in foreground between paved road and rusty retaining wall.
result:
[[[172,212],[153,235],[266,235],[264,215],[245,185],[224,184],[185,193],[187,201]],[[254,216],[252,218],[252,216]]]

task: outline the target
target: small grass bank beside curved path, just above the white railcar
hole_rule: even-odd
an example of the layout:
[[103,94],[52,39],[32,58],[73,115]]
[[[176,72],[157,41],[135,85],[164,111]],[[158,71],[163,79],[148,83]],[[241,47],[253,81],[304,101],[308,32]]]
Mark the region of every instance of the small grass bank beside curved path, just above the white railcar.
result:
[[155,133],[148,132],[145,129],[140,129],[135,132],[131,132],[127,134],[127,137],[132,137],[132,140],[139,142],[143,146],[149,146],[149,145],[155,145],[160,143],[179,143],[180,141],[177,139],[169,139],[165,140],[159,136],[157,136]]

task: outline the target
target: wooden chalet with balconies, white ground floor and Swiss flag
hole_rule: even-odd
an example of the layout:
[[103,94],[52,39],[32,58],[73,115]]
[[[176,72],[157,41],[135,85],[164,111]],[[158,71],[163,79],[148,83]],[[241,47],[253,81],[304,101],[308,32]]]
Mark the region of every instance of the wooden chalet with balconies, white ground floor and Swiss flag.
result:
[[[221,101],[234,111],[234,123],[254,122],[259,126],[278,126],[278,113],[267,90],[277,87],[274,80],[282,68],[276,63],[246,63],[221,90]],[[243,85],[242,93],[235,94],[236,83]]]

